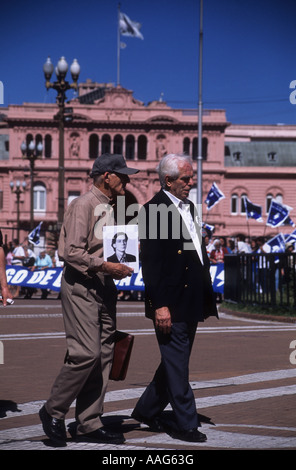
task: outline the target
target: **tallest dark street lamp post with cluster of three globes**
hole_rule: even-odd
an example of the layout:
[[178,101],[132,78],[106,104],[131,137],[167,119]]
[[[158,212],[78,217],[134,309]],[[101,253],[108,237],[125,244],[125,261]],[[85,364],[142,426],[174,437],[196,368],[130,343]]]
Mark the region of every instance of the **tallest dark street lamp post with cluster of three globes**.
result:
[[66,91],[70,89],[77,90],[77,81],[80,73],[80,65],[77,60],[74,59],[70,67],[73,83],[69,83],[65,80],[68,72],[68,64],[65,57],[61,57],[55,68],[57,80],[50,82],[54,67],[50,60],[47,58],[43,66],[43,72],[46,79],[45,86],[47,89],[53,88],[57,92],[57,104],[59,112],[57,118],[59,120],[59,169],[58,169],[58,229],[61,228],[64,217],[64,177],[65,177],[65,153],[64,153],[64,115],[65,115],[65,100]]

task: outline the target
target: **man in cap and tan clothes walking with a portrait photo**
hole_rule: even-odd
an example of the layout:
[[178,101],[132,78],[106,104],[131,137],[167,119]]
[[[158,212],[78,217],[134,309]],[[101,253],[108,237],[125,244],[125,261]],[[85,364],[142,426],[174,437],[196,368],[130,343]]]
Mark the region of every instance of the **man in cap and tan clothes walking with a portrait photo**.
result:
[[125,194],[131,174],[121,155],[104,154],[93,165],[93,186],[70,204],[59,240],[64,261],[61,301],[67,356],[49,399],[40,410],[46,435],[56,446],[66,445],[64,418],[76,399],[76,439],[120,444],[121,433],[101,421],[112,363],[117,291],[113,279],[132,269],[103,258],[102,228],[114,225],[112,204]]

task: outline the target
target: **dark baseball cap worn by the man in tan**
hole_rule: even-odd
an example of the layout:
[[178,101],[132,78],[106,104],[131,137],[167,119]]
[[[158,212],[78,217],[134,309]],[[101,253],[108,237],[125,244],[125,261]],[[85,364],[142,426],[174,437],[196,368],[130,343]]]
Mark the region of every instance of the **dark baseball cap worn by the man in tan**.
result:
[[95,159],[90,176],[93,178],[95,175],[103,175],[106,172],[134,175],[138,173],[139,170],[127,167],[122,155],[104,153]]

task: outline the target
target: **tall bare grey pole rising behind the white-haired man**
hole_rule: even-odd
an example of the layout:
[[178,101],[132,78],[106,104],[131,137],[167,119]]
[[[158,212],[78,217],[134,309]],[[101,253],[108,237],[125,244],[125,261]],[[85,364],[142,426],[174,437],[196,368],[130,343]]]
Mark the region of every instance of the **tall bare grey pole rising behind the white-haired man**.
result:
[[203,43],[203,0],[200,0],[199,14],[199,97],[198,97],[198,156],[197,156],[197,204],[202,204],[202,43]]

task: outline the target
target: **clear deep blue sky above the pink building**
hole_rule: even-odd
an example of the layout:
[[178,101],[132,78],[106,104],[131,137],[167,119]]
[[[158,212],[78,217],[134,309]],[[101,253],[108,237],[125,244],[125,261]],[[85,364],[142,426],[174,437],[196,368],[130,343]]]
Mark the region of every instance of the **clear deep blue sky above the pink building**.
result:
[[[0,81],[4,106],[55,102],[43,64],[65,56],[79,81],[117,79],[117,0],[2,2]],[[204,0],[203,107],[235,124],[296,124],[295,0]],[[198,107],[199,0],[122,0],[144,40],[123,37],[120,83],[145,104]],[[68,98],[71,93],[68,94]],[[1,106],[0,106],[1,112]]]

